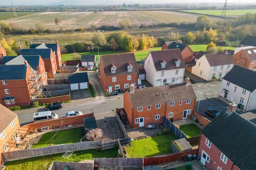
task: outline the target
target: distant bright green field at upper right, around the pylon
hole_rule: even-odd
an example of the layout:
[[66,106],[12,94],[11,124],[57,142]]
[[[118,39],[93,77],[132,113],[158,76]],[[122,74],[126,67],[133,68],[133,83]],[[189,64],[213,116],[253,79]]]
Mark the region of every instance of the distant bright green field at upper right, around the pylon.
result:
[[[222,10],[184,10],[185,12],[194,12],[198,14],[210,14],[210,15],[218,15],[221,16]],[[227,10],[226,15],[239,16],[244,15],[246,13],[256,13],[256,9],[252,10]]]

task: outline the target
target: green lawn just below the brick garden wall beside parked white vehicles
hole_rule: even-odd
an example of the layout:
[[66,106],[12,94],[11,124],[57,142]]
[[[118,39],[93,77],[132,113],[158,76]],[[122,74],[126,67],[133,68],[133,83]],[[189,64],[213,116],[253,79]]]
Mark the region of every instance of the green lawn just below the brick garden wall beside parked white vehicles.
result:
[[[56,132],[48,132],[48,133],[43,134],[43,136],[39,140],[39,142],[35,145],[32,145],[31,148],[41,148],[41,147],[47,147],[49,145],[59,145],[59,144],[64,144],[64,143],[76,143],[76,142],[79,142],[80,139],[83,138],[84,132],[83,132],[82,127],[67,129],[67,130],[59,131],[55,135],[55,137],[52,138],[55,133]],[[47,141],[49,141],[49,142],[47,142]]]

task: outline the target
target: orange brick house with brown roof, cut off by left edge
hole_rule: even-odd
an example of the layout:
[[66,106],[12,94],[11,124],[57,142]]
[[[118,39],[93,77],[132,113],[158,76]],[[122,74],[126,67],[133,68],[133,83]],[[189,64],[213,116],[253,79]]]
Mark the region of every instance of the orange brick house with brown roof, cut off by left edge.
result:
[[[18,115],[0,104],[0,153],[14,150],[20,141]],[[10,139],[13,139],[10,143]],[[2,164],[2,156],[0,154]]]

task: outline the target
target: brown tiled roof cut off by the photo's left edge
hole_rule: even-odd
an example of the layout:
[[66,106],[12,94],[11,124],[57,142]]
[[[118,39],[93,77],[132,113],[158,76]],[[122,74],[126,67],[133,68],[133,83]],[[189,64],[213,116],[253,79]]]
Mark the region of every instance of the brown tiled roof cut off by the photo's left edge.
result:
[[0,132],[2,132],[16,116],[16,113],[0,104]]

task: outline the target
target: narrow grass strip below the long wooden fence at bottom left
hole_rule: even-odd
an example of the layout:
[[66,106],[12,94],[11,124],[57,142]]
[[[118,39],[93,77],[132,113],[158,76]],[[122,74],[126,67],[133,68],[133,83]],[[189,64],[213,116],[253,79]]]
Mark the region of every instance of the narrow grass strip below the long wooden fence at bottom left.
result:
[[85,159],[93,158],[115,158],[117,157],[117,150],[108,149],[108,150],[82,150],[74,152],[69,158],[62,158],[62,154],[46,155],[35,158],[28,158],[22,160],[14,160],[12,162],[7,162],[6,170],[23,170],[23,169],[40,169],[46,170],[50,167],[53,161],[60,162],[79,162]]

